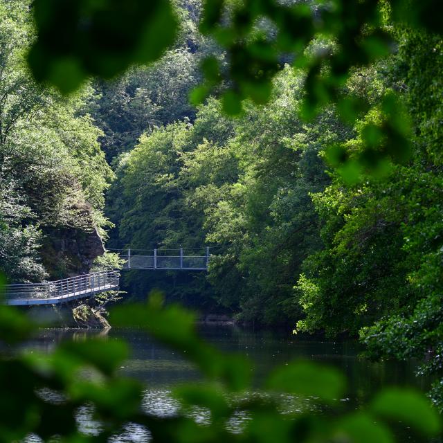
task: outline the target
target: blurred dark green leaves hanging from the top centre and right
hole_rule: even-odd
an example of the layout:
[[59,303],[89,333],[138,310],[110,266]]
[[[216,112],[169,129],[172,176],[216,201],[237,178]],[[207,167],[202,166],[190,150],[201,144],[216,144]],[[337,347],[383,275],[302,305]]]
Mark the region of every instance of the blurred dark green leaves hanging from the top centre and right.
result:
[[[230,66],[220,75],[215,62],[206,59],[210,61],[204,65],[210,66],[204,69],[206,87],[210,89],[225,78],[231,82],[223,96],[224,110],[239,114],[245,98],[256,104],[269,100],[272,79],[281,69],[284,55],[290,53],[293,66],[305,71],[306,95],[300,114],[312,118],[335,102],[345,120],[355,120],[363,104],[341,92],[355,67],[367,66],[392,52],[392,24],[441,35],[441,20],[428,19],[434,15],[435,2],[425,2],[423,8],[404,3],[408,2],[207,1],[200,30],[224,48]],[[266,21],[271,26],[266,26]],[[395,94],[386,96],[383,120],[363,132],[365,145],[359,158],[340,159],[347,181],[358,181],[361,169],[377,172],[387,159],[410,159],[408,119],[396,102]]]

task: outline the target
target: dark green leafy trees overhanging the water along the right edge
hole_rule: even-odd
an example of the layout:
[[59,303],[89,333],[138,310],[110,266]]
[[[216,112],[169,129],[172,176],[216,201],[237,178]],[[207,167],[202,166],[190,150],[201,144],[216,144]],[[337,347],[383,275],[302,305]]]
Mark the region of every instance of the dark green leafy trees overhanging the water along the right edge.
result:
[[[298,280],[296,299],[306,314],[298,327],[359,333],[372,356],[415,357],[419,374],[440,376],[442,42],[410,29],[397,34],[399,53],[377,66],[384,78],[363,71],[350,83],[375,106],[346,144],[352,155],[363,152],[363,130],[381,118],[377,103],[383,105],[386,90],[402,87],[399,113],[413,123],[413,162],[347,188],[338,171],[313,195],[325,248],[308,258]],[[440,410],[441,386],[437,379],[431,391]]]

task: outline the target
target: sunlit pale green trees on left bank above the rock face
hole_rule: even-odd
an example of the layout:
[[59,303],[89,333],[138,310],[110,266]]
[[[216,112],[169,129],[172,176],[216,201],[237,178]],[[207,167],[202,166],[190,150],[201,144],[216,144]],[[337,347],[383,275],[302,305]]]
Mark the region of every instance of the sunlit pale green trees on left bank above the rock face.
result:
[[11,280],[41,281],[54,271],[54,257],[42,263],[48,233],[97,227],[104,235],[104,192],[114,174],[102,133],[84,112],[91,89],[62,98],[31,78],[28,8],[25,0],[0,2],[0,269]]

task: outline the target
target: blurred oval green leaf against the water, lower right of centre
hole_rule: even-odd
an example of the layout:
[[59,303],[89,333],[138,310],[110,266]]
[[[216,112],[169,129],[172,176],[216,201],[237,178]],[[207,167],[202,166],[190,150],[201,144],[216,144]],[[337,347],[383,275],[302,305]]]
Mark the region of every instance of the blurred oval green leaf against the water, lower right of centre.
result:
[[341,372],[309,361],[294,361],[278,368],[266,383],[271,390],[309,395],[327,401],[340,399],[345,385]]

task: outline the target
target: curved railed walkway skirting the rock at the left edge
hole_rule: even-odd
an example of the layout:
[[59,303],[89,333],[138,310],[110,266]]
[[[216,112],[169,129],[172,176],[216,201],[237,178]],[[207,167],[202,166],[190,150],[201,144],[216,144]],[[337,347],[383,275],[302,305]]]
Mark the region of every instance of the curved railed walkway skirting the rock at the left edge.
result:
[[102,271],[55,282],[8,284],[3,303],[14,306],[60,305],[100,292],[116,291],[119,282],[118,271]]

